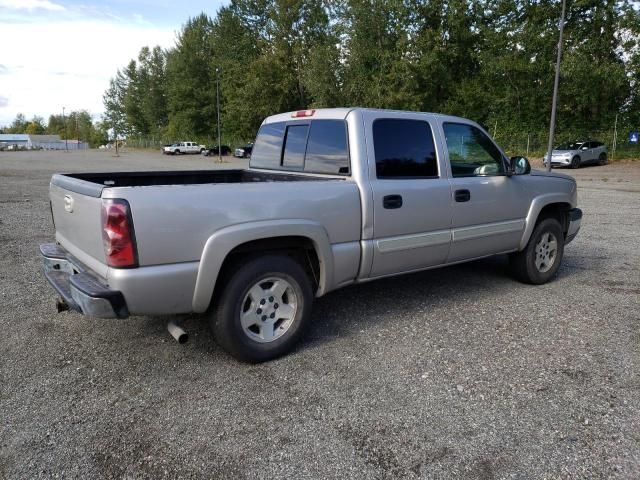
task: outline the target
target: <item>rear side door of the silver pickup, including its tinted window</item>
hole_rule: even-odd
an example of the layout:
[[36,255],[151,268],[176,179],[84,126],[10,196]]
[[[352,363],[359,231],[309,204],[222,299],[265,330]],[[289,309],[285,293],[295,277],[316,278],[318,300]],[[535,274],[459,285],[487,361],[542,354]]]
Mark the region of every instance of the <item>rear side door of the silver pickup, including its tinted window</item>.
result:
[[451,240],[451,188],[439,164],[433,117],[363,112],[373,193],[370,276],[441,265]]

